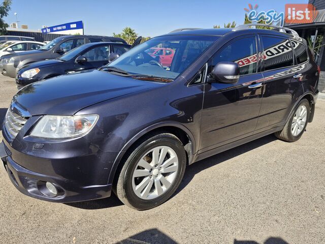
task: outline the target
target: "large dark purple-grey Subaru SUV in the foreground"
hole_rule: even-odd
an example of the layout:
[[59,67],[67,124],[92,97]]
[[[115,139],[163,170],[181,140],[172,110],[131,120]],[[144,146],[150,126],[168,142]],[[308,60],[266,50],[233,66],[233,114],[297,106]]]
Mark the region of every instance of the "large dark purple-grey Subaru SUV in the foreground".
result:
[[[248,27],[173,32],[98,70],[25,86],[0,147],[14,186],[52,202],[113,191],[143,210],[172,196],[188,164],[271,133],[298,140],[318,67],[296,32]],[[175,51],[169,69],[148,54],[157,47]]]

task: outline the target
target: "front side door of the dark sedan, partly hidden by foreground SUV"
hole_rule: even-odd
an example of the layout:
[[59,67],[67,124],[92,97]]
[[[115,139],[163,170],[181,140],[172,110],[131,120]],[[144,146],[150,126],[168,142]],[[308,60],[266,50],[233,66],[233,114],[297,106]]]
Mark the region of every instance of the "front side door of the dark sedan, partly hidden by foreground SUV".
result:
[[95,46],[88,49],[80,56],[85,57],[85,62],[75,62],[75,71],[89,70],[102,67],[108,64],[110,45]]

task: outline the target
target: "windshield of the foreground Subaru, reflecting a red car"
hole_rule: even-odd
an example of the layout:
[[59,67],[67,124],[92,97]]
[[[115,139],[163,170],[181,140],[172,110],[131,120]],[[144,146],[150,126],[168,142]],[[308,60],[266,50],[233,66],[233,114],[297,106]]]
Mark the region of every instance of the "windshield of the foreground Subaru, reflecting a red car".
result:
[[129,75],[175,79],[218,38],[180,35],[156,37],[125,52],[106,67],[122,70]]

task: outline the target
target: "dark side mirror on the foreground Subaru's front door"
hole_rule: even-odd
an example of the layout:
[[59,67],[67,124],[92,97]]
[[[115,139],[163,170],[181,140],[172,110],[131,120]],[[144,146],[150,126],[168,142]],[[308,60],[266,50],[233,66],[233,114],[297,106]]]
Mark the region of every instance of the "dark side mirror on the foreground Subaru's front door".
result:
[[233,62],[219,62],[211,72],[209,83],[222,82],[235,84],[239,79],[239,65]]

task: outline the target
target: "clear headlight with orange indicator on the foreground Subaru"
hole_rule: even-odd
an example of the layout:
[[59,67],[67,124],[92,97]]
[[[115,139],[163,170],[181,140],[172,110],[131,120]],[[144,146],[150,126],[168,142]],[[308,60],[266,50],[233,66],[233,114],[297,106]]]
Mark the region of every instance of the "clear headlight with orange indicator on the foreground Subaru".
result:
[[96,124],[99,115],[45,115],[30,136],[41,138],[71,138],[87,134]]

